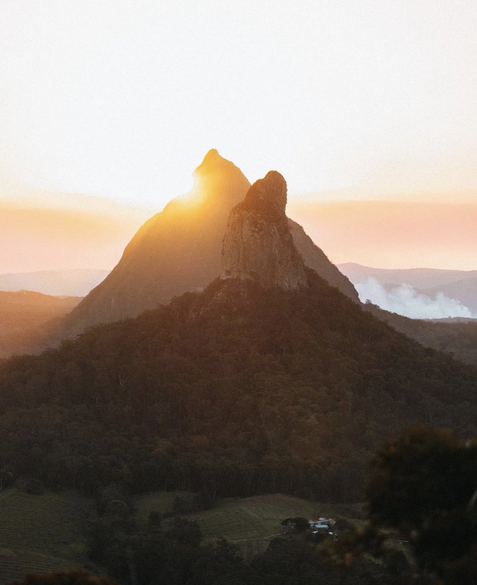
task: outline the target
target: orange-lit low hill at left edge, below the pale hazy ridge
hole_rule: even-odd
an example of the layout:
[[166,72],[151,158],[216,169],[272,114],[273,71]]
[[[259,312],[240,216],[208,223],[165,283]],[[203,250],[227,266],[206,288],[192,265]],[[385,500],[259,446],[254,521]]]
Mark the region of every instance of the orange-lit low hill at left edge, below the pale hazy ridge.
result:
[[58,319],[81,297],[52,297],[40,292],[0,291],[0,358],[30,353],[44,343]]

